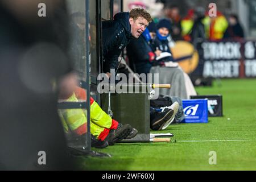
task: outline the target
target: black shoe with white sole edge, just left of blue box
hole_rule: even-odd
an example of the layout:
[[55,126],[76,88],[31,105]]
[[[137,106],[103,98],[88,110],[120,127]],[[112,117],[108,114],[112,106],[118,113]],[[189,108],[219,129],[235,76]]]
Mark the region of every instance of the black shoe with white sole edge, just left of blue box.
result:
[[156,112],[150,118],[150,127],[152,130],[162,130],[164,124],[168,122],[172,115],[174,115],[173,109],[168,109],[163,112]]

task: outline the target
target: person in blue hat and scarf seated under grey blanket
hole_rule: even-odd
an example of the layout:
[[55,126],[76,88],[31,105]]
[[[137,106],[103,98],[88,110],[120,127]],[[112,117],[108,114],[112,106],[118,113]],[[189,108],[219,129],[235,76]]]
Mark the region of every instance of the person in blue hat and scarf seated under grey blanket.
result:
[[172,89],[159,90],[160,94],[166,96],[177,96],[181,99],[188,99],[190,95],[196,95],[195,88],[187,75],[175,62],[170,48],[171,22],[168,19],[161,19],[156,24],[156,38],[152,42],[158,64],[152,67],[150,73],[159,73],[159,82],[172,84]]

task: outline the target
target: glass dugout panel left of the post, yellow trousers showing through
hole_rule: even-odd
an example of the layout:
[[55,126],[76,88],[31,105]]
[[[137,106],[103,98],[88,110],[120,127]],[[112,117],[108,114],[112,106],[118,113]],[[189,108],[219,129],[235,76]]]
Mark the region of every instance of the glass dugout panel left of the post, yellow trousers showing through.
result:
[[[87,122],[88,106],[87,90],[89,83],[86,82],[89,69],[86,67],[86,5],[85,0],[67,0],[69,19],[70,19],[70,48],[69,54],[72,59],[73,67],[77,72],[80,85],[76,87],[75,92],[67,94],[60,98],[58,113],[64,127],[68,140],[68,146],[77,150],[89,151],[88,132],[89,123]],[[87,108],[87,109],[84,109]]]

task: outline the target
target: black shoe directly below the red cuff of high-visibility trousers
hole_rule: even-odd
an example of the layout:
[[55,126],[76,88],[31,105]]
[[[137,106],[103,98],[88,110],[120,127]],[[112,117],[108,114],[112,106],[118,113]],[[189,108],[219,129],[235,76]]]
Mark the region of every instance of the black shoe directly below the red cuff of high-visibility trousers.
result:
[[112,146],[116,142],[120,142],[122,139],[126,139],[131,133],[132,127],[129,124],[122,125],[118,123],[118,127],[115,130],[110,130],[107,140],[109,145]]

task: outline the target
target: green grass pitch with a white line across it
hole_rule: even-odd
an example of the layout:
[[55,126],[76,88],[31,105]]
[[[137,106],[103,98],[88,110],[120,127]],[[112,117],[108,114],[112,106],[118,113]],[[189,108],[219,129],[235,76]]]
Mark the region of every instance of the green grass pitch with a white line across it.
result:
[[[224,117],[209,118],[204,124],[171,125],[161,132],[174,133],[176,143],[118,143],[92,148],[112,158],[77,161],[89,170],[256,170],[256,79],[214,81],[213,87],[196,90],[200,95],[222,94]],[[216,165],[209,164],[210,151],[216,151]]]

